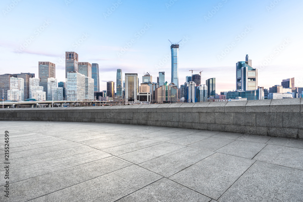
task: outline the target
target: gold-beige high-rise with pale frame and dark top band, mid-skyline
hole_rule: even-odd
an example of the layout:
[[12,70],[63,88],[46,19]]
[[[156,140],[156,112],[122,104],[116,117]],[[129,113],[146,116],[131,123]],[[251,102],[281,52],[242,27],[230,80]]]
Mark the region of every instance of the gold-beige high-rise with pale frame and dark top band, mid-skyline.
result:
[[138,74],[125,74],[125,103],[134,103],[138,96]]

